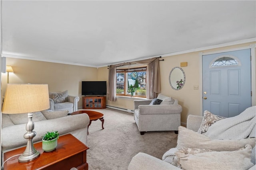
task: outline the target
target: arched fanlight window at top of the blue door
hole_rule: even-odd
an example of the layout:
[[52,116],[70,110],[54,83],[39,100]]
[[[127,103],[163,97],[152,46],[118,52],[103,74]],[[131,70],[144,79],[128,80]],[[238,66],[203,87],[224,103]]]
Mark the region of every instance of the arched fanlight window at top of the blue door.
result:
[[232,55],[222,55],[215,58],[211,64],[210,68],[212,67],[220,67],[220,66],[240,66],[240,61],[232,56]]

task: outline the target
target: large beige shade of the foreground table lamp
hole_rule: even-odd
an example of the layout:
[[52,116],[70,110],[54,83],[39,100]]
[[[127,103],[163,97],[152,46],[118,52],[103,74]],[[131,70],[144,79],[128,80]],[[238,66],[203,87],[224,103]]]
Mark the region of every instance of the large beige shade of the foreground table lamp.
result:
[[32,113],[49,108],[48,84],[7,84],[2,113]]

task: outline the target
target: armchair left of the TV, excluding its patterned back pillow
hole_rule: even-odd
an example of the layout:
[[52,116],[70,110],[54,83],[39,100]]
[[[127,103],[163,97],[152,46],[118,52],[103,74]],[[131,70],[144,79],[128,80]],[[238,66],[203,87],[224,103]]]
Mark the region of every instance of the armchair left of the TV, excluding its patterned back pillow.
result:
[[52,93],[49,93],[49,100],[50,100],[50,108],[48,110],[52,111],[60,111],[60,110],[68,110],[68,113],[73,113],[74,111],[78,110],[78,96],[70,96],[67,95],[66,102],[54,103],[52,99]]

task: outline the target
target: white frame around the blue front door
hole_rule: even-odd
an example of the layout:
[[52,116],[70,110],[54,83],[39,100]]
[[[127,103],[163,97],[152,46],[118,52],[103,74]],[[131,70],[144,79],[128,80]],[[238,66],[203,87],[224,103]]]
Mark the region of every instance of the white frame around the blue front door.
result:
[[237,51],[237,50],[244,50],[244,49],[251,49],[251,87],[252,87],[252,106],[256,106],[256,56],[255,56],[255,51],[256,51],[256,44],[250,44],[250,46],[245,46],[245,47],[239,47],[239,48],[234,48],[234,49],[226,49],[226,50],[221,50],[221,51],[212,51],[212,52],[207,52],[199,53],[199,73],[200,73],[200,86],[198,88],[200,92],[200,113],[203,115],[203,72],[202,72],[202,59],[203,55],[210,55],[210,54],[216,54],[216,53],[225,53],[225,52],[230,52],[230,51]]

